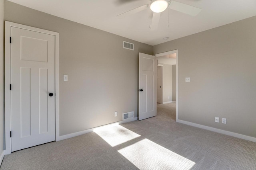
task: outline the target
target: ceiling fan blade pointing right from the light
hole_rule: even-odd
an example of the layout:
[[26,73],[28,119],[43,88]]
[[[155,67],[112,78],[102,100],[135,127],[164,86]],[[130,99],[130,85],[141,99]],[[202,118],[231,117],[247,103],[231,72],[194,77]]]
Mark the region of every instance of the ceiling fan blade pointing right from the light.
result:
[[191,16],[196,16],[202,10],[200,8],[196,8],[194,6],[190,6],[173,0],[170,1],[169,8]]

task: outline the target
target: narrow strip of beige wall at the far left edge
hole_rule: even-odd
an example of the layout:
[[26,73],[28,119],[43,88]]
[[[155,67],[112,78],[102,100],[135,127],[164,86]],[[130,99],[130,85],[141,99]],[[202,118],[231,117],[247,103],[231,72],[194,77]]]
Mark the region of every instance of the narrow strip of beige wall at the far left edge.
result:
[[0,0],[0,154],[4,139],[4,0]]

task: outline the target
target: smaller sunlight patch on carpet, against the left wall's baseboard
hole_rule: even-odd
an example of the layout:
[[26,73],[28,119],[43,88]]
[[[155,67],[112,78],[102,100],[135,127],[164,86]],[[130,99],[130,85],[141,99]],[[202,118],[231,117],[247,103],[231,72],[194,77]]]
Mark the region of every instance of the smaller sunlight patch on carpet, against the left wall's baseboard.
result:
[[95,128],[93,131],[112,147],[140,137],[137,133],[118,124]]

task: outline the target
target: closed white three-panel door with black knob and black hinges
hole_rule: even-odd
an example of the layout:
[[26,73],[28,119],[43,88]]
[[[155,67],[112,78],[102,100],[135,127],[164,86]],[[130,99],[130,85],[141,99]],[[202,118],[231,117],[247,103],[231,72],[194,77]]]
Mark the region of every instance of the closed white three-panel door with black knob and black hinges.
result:
[[13,152],[55,141],[55,36],[11,27],[11,41]]

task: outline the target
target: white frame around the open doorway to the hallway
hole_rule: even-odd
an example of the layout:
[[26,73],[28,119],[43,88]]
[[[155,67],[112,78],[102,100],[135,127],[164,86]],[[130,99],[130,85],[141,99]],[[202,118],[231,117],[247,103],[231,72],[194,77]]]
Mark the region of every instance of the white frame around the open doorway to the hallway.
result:
[[[163,55],[169,55],[176,53],[176,121],[178,120],[178,49],[172,51],[166,51],[164,53],[158,53],[154,56],[161,57]],[[163,74],[164,75],[164,74]]]

